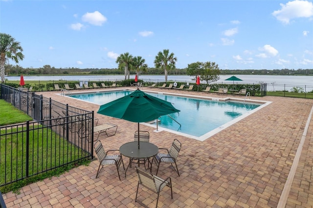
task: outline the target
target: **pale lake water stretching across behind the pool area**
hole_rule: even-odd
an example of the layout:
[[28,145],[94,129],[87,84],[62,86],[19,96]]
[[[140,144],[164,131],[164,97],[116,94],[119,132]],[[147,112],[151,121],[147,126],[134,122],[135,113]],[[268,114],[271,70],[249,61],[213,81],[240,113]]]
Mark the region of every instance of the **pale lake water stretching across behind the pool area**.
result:
[[[134,79],[135,75],[131,75]],[[217,83],[232,83],[225,81],[225,79],[232,75],[220,75],[220,80]],[[238,83],[275,83],[275,84],[293,84],[293,85],[313,85],[313,76],[281,76],[281,75],[235,75],[242,79]],[[20,80],[19,76],[5,77],[8,80]],[[164,82],[164,75],[140,75],[139,79],[144,82]],[[168,76],[168,81],[180,81],[195,83],[193,77],[188,75],[171,75]],[[67,81],[113,81],[124,80],[124,75],[77,75],[77,76],[24,76],[24,80],[37,81],[37,80],[67,80]],[[205,83],[205,82],[201,82]]]

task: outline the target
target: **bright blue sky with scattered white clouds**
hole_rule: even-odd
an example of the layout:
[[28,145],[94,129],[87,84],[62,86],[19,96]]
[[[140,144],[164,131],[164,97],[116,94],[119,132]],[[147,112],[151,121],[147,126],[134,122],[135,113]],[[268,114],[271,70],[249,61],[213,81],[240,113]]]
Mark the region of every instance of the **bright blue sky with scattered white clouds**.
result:
[[154,67],[164,49],[180,69],[313,68],[312,0],[0,0],[0,32],[23,68],[117,68],[126,52]]

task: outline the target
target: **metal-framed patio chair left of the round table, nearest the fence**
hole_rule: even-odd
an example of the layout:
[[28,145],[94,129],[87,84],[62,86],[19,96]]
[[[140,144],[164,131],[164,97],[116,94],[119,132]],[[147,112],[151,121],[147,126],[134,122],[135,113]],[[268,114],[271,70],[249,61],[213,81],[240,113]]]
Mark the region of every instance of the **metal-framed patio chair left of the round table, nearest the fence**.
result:
[[[96,178],[98,177],[98,175],[99,175],[100,171],[102,170],[103,166],[115,165],[116,169],[117,169],[118,178],[119,178],[119,180],[121,180],[121,177],[119,176],[118,168],[121,166],[121,164],[123,164],[123,168],[125,170],[122,155],[121,155],[121,153],[116,154],[116,155],[111,155],[111,154],[109,155],[108,154],[109,152],[112,152],[112,151],[119,152],[119,150],[112,149],[112,150],[108,150],[107,152],[105,152],[104,148],[102,146],[102,143],[100,141],[97,141],[94,144],[94,150],[95,150],[95,152],[97,154],[97,157],[98,157],[98,160],[100,162]],[[100,166],[102,166],[101,169],[100,169]]]

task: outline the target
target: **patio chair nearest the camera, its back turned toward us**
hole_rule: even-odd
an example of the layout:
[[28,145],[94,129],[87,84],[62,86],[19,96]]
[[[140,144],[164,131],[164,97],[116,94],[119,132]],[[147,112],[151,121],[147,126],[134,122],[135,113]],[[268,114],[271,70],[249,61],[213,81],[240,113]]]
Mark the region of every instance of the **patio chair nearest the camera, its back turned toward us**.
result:
[[[137,185],[137,190],[136,190],[136,197],[135,197],[135,202],[138,202],[140,205],[147,207],[147,205],[143,204],[142,201],[137,200],[137,196],[138,196],[138,189],[139,189],[139,185],[141,185],[142,187],[146,187],[148,190],[153,191],[154,193],[157,194],[157,198],[156,198],[156,208],[157,208],[157,203],[158,203],[158,198],[160,195],[160,191],[164,188],[164,187],[170,187],[171,188],[171,197],[173,199],[173,190],[172,190],[172,180],[171,177],[168,177],[166,179],[162,179],[160,177],[157,177],[156,175],[153,175],[152,173],[141,169],[140,167],[135,167],[136,169],[136,173],[138,176],[138,185]],[[147,198],[150,196],[147,193],[147,190],[141,191],[143,192],[143,196],[146,196]],[[150,204],[152,204],[152,202],[149,200],[146,200],[147,202],[150,202]],[[166,202],[166,200],[164,201],[164,203]]]

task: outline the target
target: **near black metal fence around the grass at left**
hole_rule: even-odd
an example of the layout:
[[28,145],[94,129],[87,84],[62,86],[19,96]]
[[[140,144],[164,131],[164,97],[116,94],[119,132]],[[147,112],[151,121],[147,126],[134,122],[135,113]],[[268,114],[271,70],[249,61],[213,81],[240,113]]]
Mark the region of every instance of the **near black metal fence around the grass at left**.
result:
[[1,99],[35,121],[0,126],[0,187],[93,158],[93,111],[3,84]]

